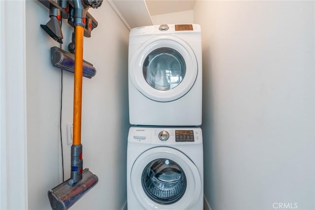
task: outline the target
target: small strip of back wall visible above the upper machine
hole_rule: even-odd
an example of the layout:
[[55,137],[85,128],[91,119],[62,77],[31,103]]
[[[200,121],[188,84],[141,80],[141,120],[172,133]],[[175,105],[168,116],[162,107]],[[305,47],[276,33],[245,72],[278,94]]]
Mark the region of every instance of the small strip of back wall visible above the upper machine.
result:
[[151,16],[153,25],[193,23],[193,10]]

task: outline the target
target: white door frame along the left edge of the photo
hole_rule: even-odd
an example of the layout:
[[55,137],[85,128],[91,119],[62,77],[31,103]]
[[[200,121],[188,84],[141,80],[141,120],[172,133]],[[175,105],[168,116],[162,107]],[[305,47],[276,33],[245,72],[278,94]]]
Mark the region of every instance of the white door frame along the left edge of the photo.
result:
[[0,0],[0,209],[28,209],[25,0]]

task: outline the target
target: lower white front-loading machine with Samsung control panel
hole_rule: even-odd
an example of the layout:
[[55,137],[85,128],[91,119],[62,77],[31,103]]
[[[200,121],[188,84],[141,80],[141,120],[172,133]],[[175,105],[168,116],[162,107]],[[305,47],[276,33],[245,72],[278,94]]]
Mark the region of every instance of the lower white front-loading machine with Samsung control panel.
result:
[[203,210],[199,127],[129,129],[128,210]]

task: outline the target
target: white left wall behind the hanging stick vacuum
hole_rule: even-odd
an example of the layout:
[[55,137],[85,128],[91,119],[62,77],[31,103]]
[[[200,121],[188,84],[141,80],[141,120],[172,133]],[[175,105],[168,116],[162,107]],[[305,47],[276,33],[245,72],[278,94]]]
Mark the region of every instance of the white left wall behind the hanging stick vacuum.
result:
[[[41,28],[49,12],[38,1],[26,3],[27,132],[29,209],[50,209],[47,191],[62,182],[60,150],[61,70],[51,65],[50,48],[59,44]],[[89,12],[98,21],[91,38],[84,38],[84,59],[97,73],[83,78],[82,144],[84,168],[98,184],[71,209],[119,210],[126,202],[126,137],[128,132],[128,29],[106,1]],[[63,49],[72,28],[63,20]],[[64,179],[70,174],[66,123],[72,122],[73,74],[63,72]]]

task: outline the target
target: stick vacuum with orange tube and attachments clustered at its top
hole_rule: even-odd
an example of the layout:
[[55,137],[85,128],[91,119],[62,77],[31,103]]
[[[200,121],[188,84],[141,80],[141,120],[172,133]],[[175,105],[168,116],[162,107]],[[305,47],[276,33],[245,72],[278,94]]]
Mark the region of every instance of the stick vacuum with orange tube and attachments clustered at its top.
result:
[[[58,186],[48,191],[48,198],[53,210],[67,210],[86,194],[98,182],[98,178],[88,168],[83,170],[82,144],[81,144],[81,113],[82,113],[82,77],[83,77],[83,37],[87,32],[91,32],[92,24],[88,22],[90,31],[86,29],[87,11],[90,7],[97,8],[102,0],[60,0],[60,5],[56,1],[40,0],[44,5],[50,8],[50,23],[56,25],[56,17],[60,13],[57,11],[67,11],[60,5],[68,3],[71,8],[69,20],[75,27],[75,52],[74,52],[74,98],[73,98],[73,144],[71,146],[71,173],[70,179],[64,181]],[[53,9],[58,7],[58,9]],[[63,16],[64,17],[64,16]],[[58,19],[58,18],[57,18]],[[91,18],[90,18],[91,19]],[[55,34],[53,24],[48,24],[42,28],[55,40],[62,43],[62,33],[58,30]],[[71,24],[70,24],[71,25]],[[50,30],[48,28],[50,27]],[[58,28],[58,27],[57,27]],[[55,32],[54,32],[55,31]],[[88,34],[89,35],[89,34]],[[57,37],[57,38],[56,38]]]

